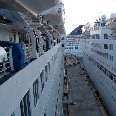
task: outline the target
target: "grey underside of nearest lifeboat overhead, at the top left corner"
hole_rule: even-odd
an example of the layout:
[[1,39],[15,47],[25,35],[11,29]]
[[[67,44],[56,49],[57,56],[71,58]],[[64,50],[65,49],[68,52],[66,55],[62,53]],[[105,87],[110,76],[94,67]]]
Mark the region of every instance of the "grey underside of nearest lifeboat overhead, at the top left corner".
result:
[[0,7],[19,12],[29,12],[38,16],[39,13],[56,6],[60,2],[60,0],[1,0]]

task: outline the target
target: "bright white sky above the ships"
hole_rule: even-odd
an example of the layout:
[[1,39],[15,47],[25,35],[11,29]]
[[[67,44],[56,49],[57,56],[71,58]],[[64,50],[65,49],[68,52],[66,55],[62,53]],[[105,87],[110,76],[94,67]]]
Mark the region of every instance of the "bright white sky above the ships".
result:
[[116,13],[116,0],[62,0],[65,7],[65,29],[69,34],[78,25],[91,24],[102,14]]

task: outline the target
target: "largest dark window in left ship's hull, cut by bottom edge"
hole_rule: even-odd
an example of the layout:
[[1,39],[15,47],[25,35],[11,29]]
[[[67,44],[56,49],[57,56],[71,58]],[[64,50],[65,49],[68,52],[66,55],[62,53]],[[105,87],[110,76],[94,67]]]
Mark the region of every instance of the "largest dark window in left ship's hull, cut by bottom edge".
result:
[[21,109],[21,116],[31,116],[29,90],[20,102],[20,109]]

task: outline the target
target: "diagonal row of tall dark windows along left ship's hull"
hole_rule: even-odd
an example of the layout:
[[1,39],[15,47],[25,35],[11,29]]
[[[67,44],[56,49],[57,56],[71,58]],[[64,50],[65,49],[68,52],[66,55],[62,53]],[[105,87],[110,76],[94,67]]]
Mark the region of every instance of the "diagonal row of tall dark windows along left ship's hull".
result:
[[[48,68],[50,70],[50,63],[48,63],[48,66],[45,66],[45,78],[44,78],[44,70],[40,74],[41,93],[43,91],[45,81],[48,80]],[[35,107],[37,106],[37,102],[39,100],[39,96],[41,93],[39,93],[39,80],[37,78],[35,82],[33,83],[33,98],[34,98],[33,100],[34,100]],[[31,116],[30,91],[29,90],[20,102],[20,110],[21,110],[21,116]],[[13,112],[11,116],[15,116],[15,113]]]

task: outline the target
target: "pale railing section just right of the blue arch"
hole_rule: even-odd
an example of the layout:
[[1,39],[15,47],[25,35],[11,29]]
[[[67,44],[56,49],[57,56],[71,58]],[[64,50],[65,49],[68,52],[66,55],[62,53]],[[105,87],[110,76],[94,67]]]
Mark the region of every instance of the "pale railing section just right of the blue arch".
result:
[[24,44],[25,62],[32,59],[32,44]]

